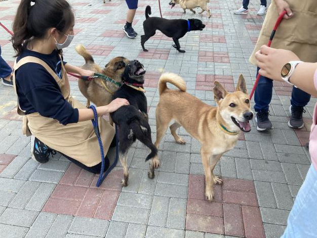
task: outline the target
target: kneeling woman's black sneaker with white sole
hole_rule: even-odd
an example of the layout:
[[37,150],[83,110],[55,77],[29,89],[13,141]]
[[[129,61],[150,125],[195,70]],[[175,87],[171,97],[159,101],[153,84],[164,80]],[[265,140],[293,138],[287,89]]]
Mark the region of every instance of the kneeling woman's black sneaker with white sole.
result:
[[48,162],[51,154],[52,157],[54,154],[56,154],[55,150],[48,147],[46,144],[38,140],[36,137],[34,137],[34,140],[32,140],[31,138],[31,150],[32,159],[41,164]]

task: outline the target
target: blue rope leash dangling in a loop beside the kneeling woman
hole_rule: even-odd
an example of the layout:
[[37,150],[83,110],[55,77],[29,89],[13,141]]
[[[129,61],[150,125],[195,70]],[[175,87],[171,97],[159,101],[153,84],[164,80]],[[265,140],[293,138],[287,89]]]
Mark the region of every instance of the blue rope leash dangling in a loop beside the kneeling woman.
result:
[[99,133],[97,110],[96,110],[96,107],[93,106],[93,105],[91,105],[89,108],[93,109],[93,111],[94,111],[94,117],[95,118],[92,119],[91,121],[92,121],[93,126],[94,126],[95,134],[96,134],[96,136],[98,138],[98,143],[99,143],[100,153],[101,153],[101,169],[100,169],[100,174],[99,174],[99,178],[98,178],[97,185],[96,185],[97,187],[99,187],[101,185],[101,183],[103,182],[103,180],[107,177],[107,175],[110,173],[110,171],[114,168],[114,166],[118,162],[118,158],[119,158],[118,126],[115,125],[115,161],[107,169],[107,171],[104,173],[104,175],[102,176],[102,172],[104,170],[105,157],[104,157],[102,141],[101,141],[100,133]]

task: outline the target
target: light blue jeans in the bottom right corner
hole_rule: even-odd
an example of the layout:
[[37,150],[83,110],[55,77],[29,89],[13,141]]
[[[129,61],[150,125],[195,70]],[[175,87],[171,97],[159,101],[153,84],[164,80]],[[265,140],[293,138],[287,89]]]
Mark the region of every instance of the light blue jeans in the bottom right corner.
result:
[[311,165],[300,187],[281,238],[317,237],[317,171]]

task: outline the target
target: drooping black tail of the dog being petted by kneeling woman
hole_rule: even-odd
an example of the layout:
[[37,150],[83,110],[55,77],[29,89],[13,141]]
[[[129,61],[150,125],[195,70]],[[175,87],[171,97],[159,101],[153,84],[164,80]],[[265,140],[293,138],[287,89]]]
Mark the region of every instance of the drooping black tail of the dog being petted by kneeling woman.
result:
[[144,123],[144,125],[142,125],[139,120],[133,120],[130,124],[130,128],[132,129],[135,137],[151,150],[151,152],[146,156],[145,161],[148,161],[150,158],[156,156],[157,148],[152,143],[151,128],[148,124],[145,125]]

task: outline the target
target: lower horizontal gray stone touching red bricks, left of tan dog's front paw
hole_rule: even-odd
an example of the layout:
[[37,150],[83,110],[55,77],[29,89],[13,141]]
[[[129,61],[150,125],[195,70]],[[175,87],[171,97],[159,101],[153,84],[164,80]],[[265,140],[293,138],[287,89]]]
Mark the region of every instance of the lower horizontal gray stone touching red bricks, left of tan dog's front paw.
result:
[[159,196],[187,199],[187,186],[157,183],[154,194]]

